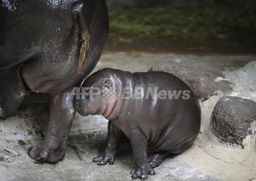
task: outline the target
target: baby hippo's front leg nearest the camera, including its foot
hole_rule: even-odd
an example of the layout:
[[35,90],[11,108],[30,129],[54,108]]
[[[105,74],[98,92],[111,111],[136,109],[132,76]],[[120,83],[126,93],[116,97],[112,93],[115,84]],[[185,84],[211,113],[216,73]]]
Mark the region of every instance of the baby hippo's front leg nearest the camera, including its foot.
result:
[[151,167],[147,160],[147,140],[144,135],[137,130],[132,130],[130,140],[133,148],[136,168],[131,172],[132,179],[147,179],[148,174],[155,175],[155,170]]

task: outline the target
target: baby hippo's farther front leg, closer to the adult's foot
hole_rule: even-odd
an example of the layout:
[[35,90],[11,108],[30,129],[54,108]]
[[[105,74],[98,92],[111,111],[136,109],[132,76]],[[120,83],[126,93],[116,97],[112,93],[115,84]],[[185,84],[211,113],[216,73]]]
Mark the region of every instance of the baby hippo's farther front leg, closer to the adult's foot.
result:
[[121,130],[119,130],[111,123],[111,121],[109,121],[108,138],[106,139],[105,150],[98,157],[95,157],[93,162],[97,163],[98,165],[105,165],[109,162],[110,165],[113,165],[115,162],[117,145],[120,141],[121,134]]

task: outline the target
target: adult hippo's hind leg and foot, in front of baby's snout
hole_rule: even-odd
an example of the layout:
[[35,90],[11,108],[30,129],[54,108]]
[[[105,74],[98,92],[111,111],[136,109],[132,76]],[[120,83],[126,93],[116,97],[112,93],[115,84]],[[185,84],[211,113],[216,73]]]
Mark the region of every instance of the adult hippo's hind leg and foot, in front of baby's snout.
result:
[[39,162],[56,163],[65,156],[68,135],[75,110],[74,97],[69,97],[70,90],[61,94],[51,95],[51,115],[45,143],[38,148],[29,149],[29,156]]

